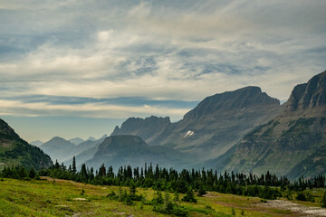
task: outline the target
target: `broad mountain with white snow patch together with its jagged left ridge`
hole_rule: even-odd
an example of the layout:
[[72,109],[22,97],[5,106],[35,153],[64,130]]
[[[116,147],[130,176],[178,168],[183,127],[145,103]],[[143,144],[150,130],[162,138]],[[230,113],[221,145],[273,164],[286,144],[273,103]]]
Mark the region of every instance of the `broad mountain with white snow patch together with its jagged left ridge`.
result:
[[111,135],[138,136],[151,146],[196,153],[197,161],[204,161],[224,154],[279,111],[279,100],[258,87],[246,87],[207,97],[177,123],[169,118],[129,118]]

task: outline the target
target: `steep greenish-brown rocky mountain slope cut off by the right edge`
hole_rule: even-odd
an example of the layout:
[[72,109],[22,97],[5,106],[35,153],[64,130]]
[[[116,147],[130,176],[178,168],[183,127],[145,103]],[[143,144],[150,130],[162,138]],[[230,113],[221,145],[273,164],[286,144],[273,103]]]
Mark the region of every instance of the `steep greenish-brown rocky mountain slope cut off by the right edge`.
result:
[[326,173],[326,71],[297,85],[283,112],[206,165],[296,178]]

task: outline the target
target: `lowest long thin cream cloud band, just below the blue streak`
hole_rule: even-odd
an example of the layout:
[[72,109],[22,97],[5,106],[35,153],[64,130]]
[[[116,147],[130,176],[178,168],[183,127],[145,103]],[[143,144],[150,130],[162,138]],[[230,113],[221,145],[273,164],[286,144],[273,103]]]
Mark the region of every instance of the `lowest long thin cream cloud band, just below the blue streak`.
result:
[[[119,103],[117,103],[119,104]],[[164,105],[114,105],[105,102],[87,102],[87,103],[49,103],[22,102],[19,100],[0,99],[0,109],[2,115],[24,117],[37,116],[67,116],[67,117],[88,117],[88,118],[126,118],[132,115],[145,118],[149,114],[173,118],[183,116],[189,109],[165,107]]]

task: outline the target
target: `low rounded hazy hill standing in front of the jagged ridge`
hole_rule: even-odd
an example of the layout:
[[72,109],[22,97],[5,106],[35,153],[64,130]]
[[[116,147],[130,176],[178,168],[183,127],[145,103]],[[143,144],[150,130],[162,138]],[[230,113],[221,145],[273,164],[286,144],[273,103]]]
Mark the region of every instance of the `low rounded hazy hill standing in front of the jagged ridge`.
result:
[[[192,159],[191,156],[186,156],[189,160]],[[167,168],[182,168],[186,166],[184,161],[180,160],[184,157],[185,154],[165,146],[149,146],[140,137],[120,135],[107,137],[86,165],[98,168],[104,163],[118,168],[121,165],[136,167],[152,163]]]

